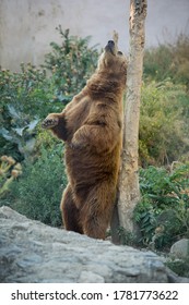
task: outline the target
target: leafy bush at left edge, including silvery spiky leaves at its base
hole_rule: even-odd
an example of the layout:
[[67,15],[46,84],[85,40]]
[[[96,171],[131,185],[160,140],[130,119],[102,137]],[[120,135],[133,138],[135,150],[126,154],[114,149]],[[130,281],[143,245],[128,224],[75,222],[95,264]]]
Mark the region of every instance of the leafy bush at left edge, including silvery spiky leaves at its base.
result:
[[0,156],[21,161],[33,152],[37,123],[51,109],[50,96],[44,70],[21,64],[20,73],[0,71]]

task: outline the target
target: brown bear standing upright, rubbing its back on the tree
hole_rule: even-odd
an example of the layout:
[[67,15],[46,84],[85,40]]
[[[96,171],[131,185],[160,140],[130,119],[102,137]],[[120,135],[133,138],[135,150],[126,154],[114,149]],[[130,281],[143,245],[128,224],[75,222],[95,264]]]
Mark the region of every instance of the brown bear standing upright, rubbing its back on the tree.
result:
[[105,239],[116,198],[126,77],[127,59],[109,40],[82,91],[43,122],[64,142],[64,227],[95,239]]

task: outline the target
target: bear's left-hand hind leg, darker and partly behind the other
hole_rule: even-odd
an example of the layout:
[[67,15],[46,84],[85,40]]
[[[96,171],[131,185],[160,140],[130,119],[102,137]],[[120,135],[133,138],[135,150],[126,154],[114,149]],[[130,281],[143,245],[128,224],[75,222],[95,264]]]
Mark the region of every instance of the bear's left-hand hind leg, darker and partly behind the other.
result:
[[80,211],[74,204],[70,185],[68,185],[63,192],[60,209],[66,230],[83,234],[83,229],[80,222]]

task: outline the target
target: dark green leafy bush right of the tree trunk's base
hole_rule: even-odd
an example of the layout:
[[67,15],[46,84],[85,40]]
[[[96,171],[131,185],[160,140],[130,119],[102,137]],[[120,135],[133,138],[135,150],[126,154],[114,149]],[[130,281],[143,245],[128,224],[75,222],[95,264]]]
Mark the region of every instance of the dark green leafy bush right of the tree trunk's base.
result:
[[141,202],[134,217],[143,245],[166,249],[180,236],[189,237],[189,163],[167,171],[149,167],[140,171]]

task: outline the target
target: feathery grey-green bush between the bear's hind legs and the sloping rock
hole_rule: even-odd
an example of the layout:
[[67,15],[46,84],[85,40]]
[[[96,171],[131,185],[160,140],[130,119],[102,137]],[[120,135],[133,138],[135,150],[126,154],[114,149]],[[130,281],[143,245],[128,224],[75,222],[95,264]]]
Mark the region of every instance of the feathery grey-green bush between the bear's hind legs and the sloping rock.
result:
[[46,224],[60,225],[60,199],[67,184],[61,160],[62,145],[42,148],[35,163],[27,162],[23,174],[10,185],[10,194],[1,205],[9,205],[26,217]]

